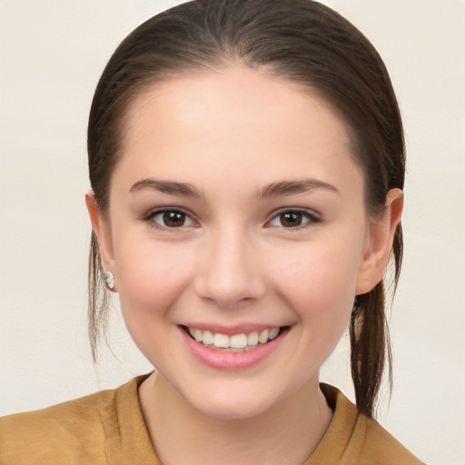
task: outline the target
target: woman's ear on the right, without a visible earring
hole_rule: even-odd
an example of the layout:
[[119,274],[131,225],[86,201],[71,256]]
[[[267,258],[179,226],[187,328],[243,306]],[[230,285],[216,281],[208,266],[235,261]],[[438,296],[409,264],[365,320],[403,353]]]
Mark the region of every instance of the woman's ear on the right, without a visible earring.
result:
[[401,189],[391,189],[386,195],[383,215],[380,219],[371,220],[369,226],[366,252],[357,278],[356,295],[370,292],[381,282],[390,257],[394,234],[401,221],[402,209]]

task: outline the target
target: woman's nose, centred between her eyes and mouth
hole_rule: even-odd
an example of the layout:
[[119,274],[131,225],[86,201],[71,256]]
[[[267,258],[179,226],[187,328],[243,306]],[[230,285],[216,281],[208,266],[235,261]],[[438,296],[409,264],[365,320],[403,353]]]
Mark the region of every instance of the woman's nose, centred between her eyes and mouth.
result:
[[195,291],[223,308],[262,297],[266,290],[257,247],[239,228],[223,229],[206,239],[195,278]]

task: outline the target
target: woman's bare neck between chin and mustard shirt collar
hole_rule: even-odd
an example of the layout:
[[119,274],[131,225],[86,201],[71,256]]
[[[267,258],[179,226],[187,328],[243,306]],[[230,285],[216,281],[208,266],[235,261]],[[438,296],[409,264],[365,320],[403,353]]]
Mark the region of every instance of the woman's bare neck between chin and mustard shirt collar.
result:
[[302,465],[332,418],[318,379],[269,411],[246,419],[203,415],[161,374],[153,373],[143,381],[139,396],[153,447],[163,465]]

